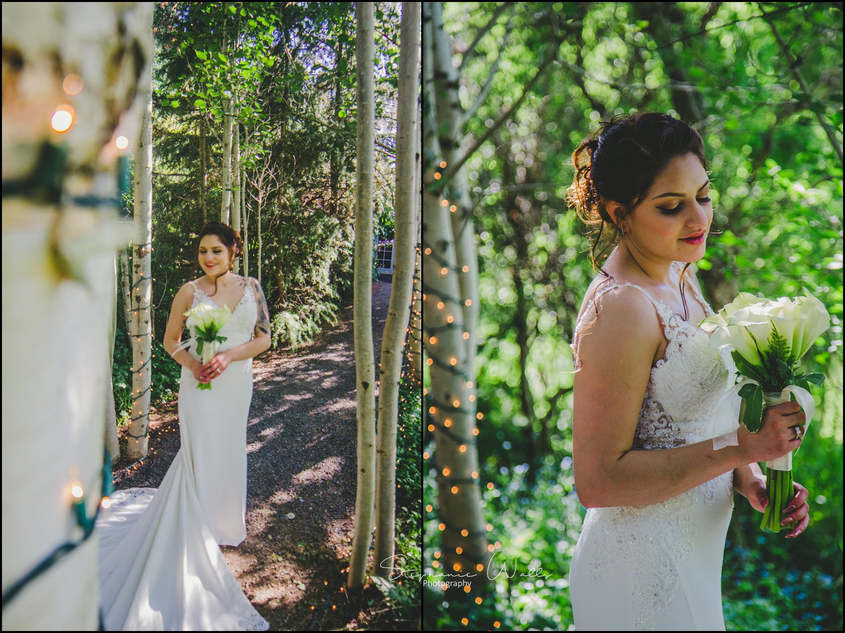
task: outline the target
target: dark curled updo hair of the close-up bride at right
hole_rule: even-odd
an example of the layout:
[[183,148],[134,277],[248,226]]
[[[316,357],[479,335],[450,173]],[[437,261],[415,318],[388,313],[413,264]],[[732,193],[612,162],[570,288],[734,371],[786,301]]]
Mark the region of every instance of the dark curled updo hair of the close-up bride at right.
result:
[[[619,243],[622,235],[619,226],[608,214],[608,200],[621,205],[617,213],[617,222],[621,224],[646,196],[669,162],[686,154],[695,154],[707,170],[704,141],[699,133],[662,112],[613,116],[609,121],[599,122],[598,129],[575,148],[572,153],[575,176],[567,189],[566,200],[591,229],[590,261],[594,270],[598,268],[608,278],[602,284],[613,276],[597,264],[596,249],[602,246],[598,257],[603,257]],[[607,232],[604,231],[605,225],[608,225]],[[688,318],[684,273],[689,267],[687,262],[679,282],[684,319]],[[596,291],[593,290],[593,298],[595,296]]]

